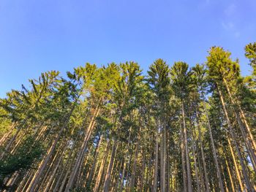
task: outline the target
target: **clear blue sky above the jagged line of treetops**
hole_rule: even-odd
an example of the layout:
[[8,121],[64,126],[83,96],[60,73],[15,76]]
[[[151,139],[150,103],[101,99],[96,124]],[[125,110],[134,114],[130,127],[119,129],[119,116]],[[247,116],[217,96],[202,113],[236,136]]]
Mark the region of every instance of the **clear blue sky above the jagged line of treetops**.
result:
[[65,74],[86,62],[192,66],[213,45],[239,58],[246,75],[255,18],[255,0],[1,0],[0,97],[41,72]]

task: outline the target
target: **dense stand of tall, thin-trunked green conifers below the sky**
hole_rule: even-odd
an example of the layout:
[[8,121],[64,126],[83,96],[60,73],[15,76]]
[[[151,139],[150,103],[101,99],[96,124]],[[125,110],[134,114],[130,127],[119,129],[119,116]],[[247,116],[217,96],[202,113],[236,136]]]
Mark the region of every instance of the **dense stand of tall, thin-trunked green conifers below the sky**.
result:
[[255,191],[256,42],[244,50],[247,77],[211,47],[192,67],[86,64],[10,91],[1,191]]

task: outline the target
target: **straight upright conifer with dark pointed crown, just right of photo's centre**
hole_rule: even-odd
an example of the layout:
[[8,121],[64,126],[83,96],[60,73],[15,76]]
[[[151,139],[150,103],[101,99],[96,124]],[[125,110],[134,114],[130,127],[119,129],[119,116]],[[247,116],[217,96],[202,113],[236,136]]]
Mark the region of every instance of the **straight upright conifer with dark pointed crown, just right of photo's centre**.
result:
[[[167,108],[170,99],[170,77],[169,67],[162,59],[157,59],[154,64],[149,66],[148,84],[154,93],[154,111],[156,127],[156,149],[155,149],[155,168],[154,168],[154,191],[157,191],[157,172],[158,172],[158,145],[160,143],[160,186],[161,191],[165,191],[166,185],[166,118]],[[160,139],[159,139],[160,137]],[[160,141],[159,141],[160,140]]]

